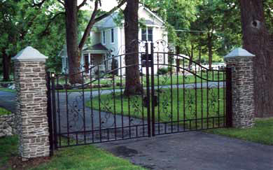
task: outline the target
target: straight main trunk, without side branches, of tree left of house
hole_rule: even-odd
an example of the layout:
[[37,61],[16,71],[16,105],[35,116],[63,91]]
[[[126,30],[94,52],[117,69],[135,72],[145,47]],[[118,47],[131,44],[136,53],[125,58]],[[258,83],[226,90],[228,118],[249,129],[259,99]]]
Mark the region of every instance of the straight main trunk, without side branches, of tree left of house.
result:
[[65,0],[66,47],[69,60],[69,83],[81,83],[80,51],[78,49],[78,9],[77,1]]

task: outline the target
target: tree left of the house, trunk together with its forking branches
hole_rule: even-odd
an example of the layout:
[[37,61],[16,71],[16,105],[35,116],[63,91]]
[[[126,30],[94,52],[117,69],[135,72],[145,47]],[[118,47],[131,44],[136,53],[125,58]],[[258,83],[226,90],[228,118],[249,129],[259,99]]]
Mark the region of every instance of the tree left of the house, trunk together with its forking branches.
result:
[[83,46],[85,44],[85,41],[87,40],[87,37],[92,27],[96,22],[99,22],[105,17],[108,17],[109,15],[111,15],[111,13],[120,8],[120,6],[123,6],[125,0],[120,1],[118,6],[112,8],[109,12],[99,16],[97,16],[99,14],[98,6],[99,4],[101,5],[101,1],[94,0],[94,10],[92,11],[90,21],[88,22],[87,27],[85,28],[80,43],[78,43],[78,11],[80,10],[81,7],[85,6],[87,0],[83,0],[83,2],[80,3],[79,6],[77,6],[78,3],[77,0],[73,1],[64,0],[64,2],[59,0],[59,2],[63,4],[66,14],[66,48],[69,59],[69,83],[71,84],[81,83],[82,82],[82,79],[80,78],[81,75],[78,73],[80,71],[80,53],[81,50],[83,50]]

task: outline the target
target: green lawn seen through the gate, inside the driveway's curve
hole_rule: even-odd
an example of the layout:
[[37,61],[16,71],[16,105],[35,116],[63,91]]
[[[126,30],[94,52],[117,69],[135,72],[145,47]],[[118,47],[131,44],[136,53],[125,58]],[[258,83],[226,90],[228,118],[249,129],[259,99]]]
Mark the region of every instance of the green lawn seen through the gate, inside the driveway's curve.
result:
[[[118,90],[117,90],[118,91]],[[172,92],[172,93],[171,93]],[[207,92],[209,94],[207,100]],[[219,93],[219,96],[218,96]],[[209,91],[197,89],[162,89],[160,93],[156,92],[159,96],[159,106],[155,107],[155,120],[160,122],[170,122],[178,120],[190,120],[199,118],[211,118],[218,117],[218,115],[224,115],[224,101],[223,100],[223,89],[211,89]],[[185,98],[184,98],[185,94]],[[195,98],[195,95],[197,98]],[[114,97],[115,96],[115,97]],[[185,99],[185,101],[183,101]],[[100,101],[100,102],[99,102]],[[196,101],[196,102],[195,102]],[[208,103],[209,101],[209,103]],[[185,105],[183,104],[185,102]],[[122,104],[123,103],[123,104]],[[92,106],[91,106],[92,105]],[[115,92],[115,94],[103,94],[100,98],[94,97],[91,101],[87,101],[86,106],[90,106],[96,110],[101,109],[101,111],[108,111],[113,114],[130,115],[134,118],[144,118],[147,119],[147,109],[144,108],[142,111],[143,100],[141,96],[124,97],[120,92]],[[203,105],[203,107],[202,107]],[[209,111],[207,110],[207,105],[209,106]],[[218,112],[219,109],[219,112]],[[130,111],[129,111],[130,110]],[[207,113],[209,112],[209,115]],[[194,123],[193,125],[197,128],[211,127],[211,123],[214,125],[223,124],[223,119],[209,119],[197,121],[186,121],[186,126],[189,123]],[[180,122],[184,124],[184,122]]]

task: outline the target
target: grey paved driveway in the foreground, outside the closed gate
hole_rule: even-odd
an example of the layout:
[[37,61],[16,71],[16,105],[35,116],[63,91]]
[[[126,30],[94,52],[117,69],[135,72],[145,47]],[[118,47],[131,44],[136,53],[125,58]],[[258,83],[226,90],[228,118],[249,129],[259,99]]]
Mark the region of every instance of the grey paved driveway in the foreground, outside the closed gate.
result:
[[272,170],[273,146],[204,132],[96,144],[155,170]]

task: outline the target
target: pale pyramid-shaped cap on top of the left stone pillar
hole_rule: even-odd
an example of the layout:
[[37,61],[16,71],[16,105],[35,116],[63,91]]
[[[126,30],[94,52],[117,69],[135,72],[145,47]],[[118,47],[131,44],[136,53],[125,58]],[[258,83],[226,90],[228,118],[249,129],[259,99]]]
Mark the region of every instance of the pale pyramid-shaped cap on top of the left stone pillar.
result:
[[42,55],[41,52],[35,48],[28,46],[27,48],[18,52],[18,54],[11,59],[19,61],[45,61],[45,59],[48,59],[48,57]]

